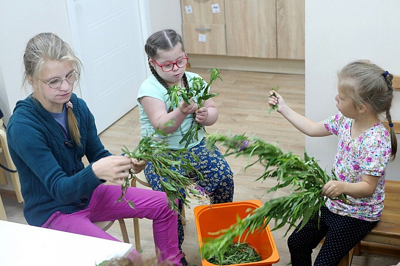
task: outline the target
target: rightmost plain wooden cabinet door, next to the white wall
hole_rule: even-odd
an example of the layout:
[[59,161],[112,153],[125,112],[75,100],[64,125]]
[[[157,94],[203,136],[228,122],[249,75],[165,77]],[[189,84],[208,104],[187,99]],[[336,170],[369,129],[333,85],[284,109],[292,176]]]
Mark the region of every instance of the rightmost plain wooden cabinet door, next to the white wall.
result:
[[278,58],[304,59],[304,0],[277,0]]

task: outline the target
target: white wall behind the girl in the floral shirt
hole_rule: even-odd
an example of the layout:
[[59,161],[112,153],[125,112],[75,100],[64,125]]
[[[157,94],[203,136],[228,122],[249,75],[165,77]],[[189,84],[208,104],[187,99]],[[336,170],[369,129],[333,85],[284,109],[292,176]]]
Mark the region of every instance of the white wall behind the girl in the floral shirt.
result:
[[[320,121],[338,112],[337,72],[355,59],[369,59],[394,75],[400,75],[400,1],[306,0],[305,2],[305,114]],[[400,120],[399,94],[392,118]],[[397,135],[400,142],[400,135]],[[330,172],[336,152],[336,136],[306,137],[309,155]],[[400,149],[398,153],[400,158]],[[400,180],[397,159],[386,178]]]

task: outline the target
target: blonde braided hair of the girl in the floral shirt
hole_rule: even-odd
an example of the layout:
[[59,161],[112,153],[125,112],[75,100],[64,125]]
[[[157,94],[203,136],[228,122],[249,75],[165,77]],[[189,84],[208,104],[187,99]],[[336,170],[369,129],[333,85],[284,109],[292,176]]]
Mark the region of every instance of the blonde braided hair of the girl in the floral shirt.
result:
[[[338,74],[339,83],[346,84],[343,89],[355,104],[368,105],[373,114],[385,114],[386,120],[392,124],[390,108],[393,100],[393,74],[365,60],[353,61],[344,66]],[[397,138],[393,127],[390,127],[392,159],[396,158]]]

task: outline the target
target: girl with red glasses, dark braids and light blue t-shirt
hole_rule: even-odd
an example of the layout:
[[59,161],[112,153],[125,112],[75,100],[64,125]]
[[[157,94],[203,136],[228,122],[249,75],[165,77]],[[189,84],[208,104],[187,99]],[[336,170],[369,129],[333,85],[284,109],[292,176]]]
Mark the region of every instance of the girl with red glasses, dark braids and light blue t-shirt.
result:
[[[213,125],[218,118],[218,109],[211,98],[207,99],[201,108],[193,99],[190,104],[181,100],[178,107],[172,106],[168,90],[174,85],[189,88],[192,86],[190,79],[199,77],[195,73],[185,71],[188,56],[183,49],[182,38],[178,33],[174,30],[156,32],[147,39],[144,50],[153,75],[149,76],[139,89],[141,135],[146,136],[154,133],[155,129],[161,129],[167,135],[158,137],[160,139],[167,138],[171,150],[183,149],[185,143],[180,144],[180,140],[193,123],[196,121],[204,126]],[[170,120],[174,122],[173,125],[166,126],[165,124]],[[200,162],[193,161],[192,163],[201,171],[204,180],[197,180],[197,176],[193,176],[193,178],[198,185],[205,189],[205,193],[210,196],[212,203],[232,202],[233,173],[218,148],[214,147],[210,151],[203,138],[204,132],[199,131],[198,139],[191,139],[187,146],[189,152],[195,153],[200,158]],[[168,178],[156,175],[150,162],[147,163],[144,174],[153,190],[162,190],[160,179]],[[183,190],[180,193],[185,196]],[[180,212],[182,212],[182,208],[183,202],[179,199]],[[180,218],[178,219],[178,235],[181,250],[183,227]],[[181,263],[183,266],[187,265],[183,253]]]

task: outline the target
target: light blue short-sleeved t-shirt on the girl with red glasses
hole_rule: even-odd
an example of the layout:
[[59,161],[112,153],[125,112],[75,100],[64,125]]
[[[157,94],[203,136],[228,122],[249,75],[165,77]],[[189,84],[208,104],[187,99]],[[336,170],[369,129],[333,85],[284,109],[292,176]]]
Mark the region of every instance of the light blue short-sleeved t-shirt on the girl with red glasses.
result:
[[[190,81],[192,77],[200,77],[196,73],[185,72],[187,80]],[[189,82],[189,87],[192,86],[192,82]],[[140,124],[141,130],[140,134],[142,137],[145,137],[147,134],[150,135],[155,132],[154,127],[151,125],[149,117],[147,116],[146,112],[144,112],[143,106],[140,104],[140,98],[144,96],[153,97],[156,99],[160,99],[165,102],[166,111],[171,107],[171,100],[169,99],[169,95],[167,90],[161,83],[156,79],[155,76],[151,75],[143,83],[140,85],[139,93],[138,93],[138,105],[139,105],[139,112],[140,112]],[[174,108],[175,109],[175,108]],[[169,148],[171,150],[180,150],[185,147],[186,141],[182,144],[179,144],[180,140],[183,136],[189,131],[189,129],[194,126],[196,123],[195,119],[193,118],[193,114],[188,114],[183,120],[180,127],[173,133],[169,133],[167,136],[156,135],[157,138],[160,139],[167,139],[169,144]],[[204,132],[202,130],[198,131],[198,138],[193,138],[188,145],[188,149],[196,146],[200,143],[200,141],[204,137]]]

